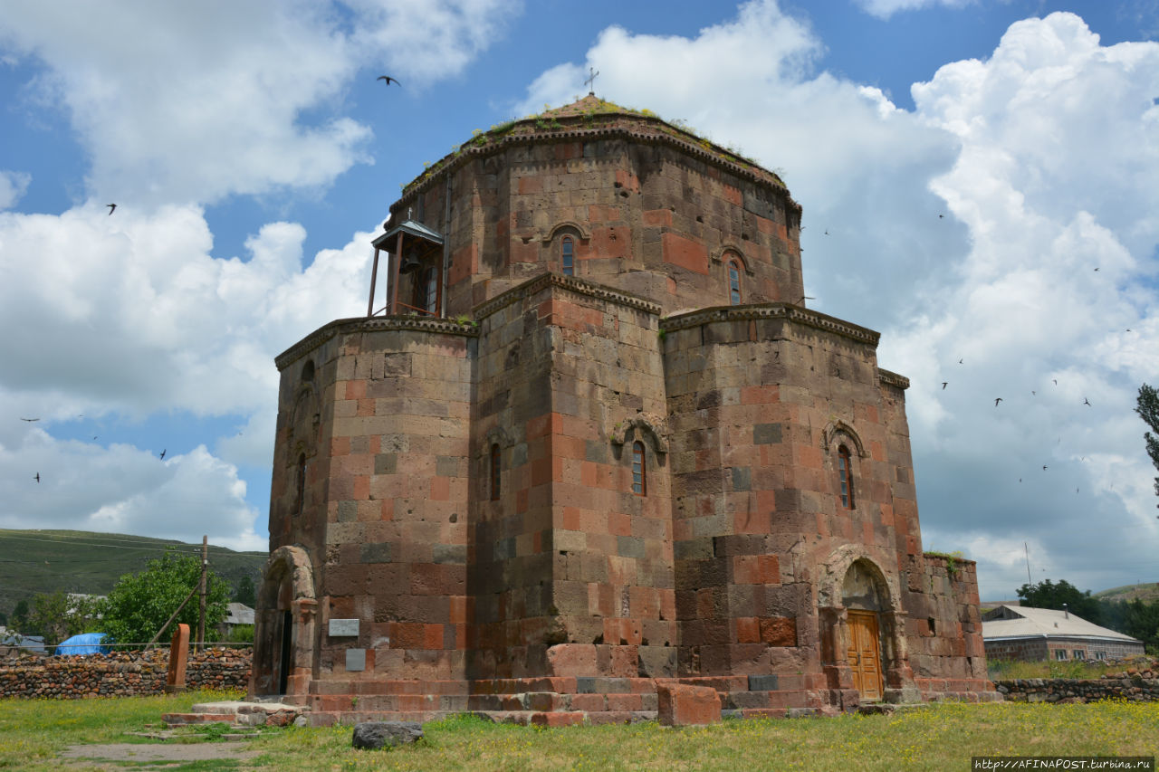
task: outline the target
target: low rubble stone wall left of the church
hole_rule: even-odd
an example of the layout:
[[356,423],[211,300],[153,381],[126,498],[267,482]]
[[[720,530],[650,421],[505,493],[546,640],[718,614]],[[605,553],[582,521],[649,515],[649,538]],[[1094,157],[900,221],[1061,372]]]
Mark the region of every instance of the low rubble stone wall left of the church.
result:
[[[253,651],[205,649],[190,651],[185,667],[189,689],[240,689],[249,685]],[[0,663],[0,697],[130,697],[165,691],[168,649],[153,651],[25,656]]]

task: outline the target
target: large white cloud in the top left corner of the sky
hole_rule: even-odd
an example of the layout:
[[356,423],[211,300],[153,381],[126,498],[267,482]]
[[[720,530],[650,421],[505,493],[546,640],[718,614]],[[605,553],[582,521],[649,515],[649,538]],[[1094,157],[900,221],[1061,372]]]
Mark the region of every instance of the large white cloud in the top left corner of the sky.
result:
[[0,19],[0,46],[48,66],[29,99],[67,110],[92,158],[89,192],[145,209],[330,184],[370,160],[371,129],[337,115],[364,66],[453,75],[510,6],[21,3]]

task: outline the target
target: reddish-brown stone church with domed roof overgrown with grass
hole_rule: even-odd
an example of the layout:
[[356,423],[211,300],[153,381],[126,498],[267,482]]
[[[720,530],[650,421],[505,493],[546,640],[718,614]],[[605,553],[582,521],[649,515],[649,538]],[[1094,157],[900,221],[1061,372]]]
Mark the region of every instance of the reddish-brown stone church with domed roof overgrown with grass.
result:
[[410,182],[366,315],[277,357],[252,695],[548,724],[672,683],[727,715],[994,699],[975,566],[921,549],[909,381],[806,307],[800,233],[775,174],[593,95]]

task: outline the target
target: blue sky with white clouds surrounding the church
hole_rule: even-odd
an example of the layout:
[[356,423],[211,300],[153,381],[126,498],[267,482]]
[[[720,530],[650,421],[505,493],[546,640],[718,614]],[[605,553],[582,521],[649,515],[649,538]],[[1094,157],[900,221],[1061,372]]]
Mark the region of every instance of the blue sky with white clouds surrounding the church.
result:
[[265,549],[274,357],[365,313],[424,163],[596,70],[786,181],[809,306],[911,380],[926,549],[983,599],[1159,581],[1157,41],[1159,0],[0,0],[0,527]]

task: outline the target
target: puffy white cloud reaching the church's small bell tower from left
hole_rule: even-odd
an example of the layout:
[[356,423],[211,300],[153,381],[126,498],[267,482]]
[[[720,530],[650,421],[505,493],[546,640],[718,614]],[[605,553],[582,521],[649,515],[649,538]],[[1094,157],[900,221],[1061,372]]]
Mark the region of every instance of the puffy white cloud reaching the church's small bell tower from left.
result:
[[197,207],[0,213],[0,323],[25,330],[0,343],[0,388],[17,402],[39,395],[32,409],[50,417],[78,405],[138,416],[268,409],[274,356],[359,313],[369,272],[369,233],[305,270],[304,239],[300,225],[265,225],[242,262],[210,256]]

